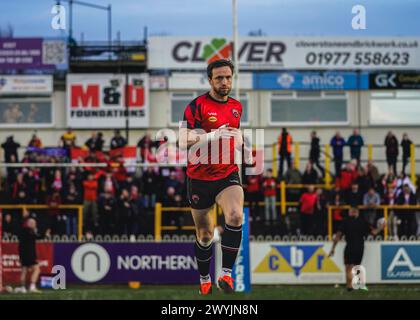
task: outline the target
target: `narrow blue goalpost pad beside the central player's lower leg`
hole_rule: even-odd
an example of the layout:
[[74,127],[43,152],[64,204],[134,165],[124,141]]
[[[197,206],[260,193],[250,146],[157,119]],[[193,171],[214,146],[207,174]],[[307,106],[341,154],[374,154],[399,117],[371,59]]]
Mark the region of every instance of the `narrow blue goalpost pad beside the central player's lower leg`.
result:
[[242,243],[232,270],[236,292],[251,292],[251,265],[249,255],[249,209],[244,208]]

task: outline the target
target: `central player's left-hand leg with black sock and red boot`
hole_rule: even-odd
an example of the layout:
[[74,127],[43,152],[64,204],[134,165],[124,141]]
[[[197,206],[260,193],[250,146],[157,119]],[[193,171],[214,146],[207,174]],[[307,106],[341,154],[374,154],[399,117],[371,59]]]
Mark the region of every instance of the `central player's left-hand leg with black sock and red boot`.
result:
[[195,258],[200,273],[200,293],[211,293],[210,263],[213,247],[214,225],[210,216],[212,207],[207,209],[191,209],[195,228],[196,242],[194,244]]

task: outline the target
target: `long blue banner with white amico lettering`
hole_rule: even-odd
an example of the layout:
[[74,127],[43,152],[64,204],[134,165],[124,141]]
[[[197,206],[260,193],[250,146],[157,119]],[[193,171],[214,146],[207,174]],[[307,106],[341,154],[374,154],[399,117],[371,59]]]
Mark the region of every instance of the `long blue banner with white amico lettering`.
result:
[[259,90],[366,90],[368,75],[357,72],[261,72],[253,74]]

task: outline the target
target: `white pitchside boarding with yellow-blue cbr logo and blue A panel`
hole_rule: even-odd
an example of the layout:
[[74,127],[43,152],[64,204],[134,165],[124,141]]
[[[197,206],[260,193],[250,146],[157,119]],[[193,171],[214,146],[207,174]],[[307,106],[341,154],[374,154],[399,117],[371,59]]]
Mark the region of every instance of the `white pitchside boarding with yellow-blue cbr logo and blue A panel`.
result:
[[[345,243],[251,242],[253,284],[344,284]],[[420,283],[420,242],[366,242],[366,283]]]

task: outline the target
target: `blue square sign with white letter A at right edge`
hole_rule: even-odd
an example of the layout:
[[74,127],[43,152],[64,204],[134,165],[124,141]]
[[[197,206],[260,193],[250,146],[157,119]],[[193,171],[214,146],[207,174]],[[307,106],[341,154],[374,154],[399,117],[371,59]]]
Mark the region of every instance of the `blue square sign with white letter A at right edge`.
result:
[[382,245],[381,278],[420,280],[420,245]]

